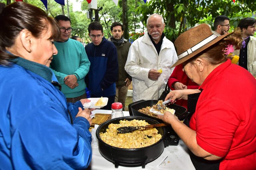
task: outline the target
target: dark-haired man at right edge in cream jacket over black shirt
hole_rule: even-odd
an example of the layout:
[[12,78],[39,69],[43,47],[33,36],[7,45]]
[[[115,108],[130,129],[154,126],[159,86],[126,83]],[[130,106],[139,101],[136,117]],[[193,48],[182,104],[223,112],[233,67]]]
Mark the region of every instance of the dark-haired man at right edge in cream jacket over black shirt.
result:
[[253,76],[256,76],[256,38],[253,37],[255,26],[254,18],[247,17],[239,22],[238,27],[242,32],[243,42],[241,49],[233,53],[239,55],[238,65],[247,69]]

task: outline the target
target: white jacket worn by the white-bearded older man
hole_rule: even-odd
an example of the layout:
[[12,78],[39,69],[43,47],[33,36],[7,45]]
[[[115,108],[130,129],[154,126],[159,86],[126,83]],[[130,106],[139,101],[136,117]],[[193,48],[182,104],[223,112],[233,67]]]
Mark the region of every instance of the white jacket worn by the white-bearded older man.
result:
[[[173,43],[166,37],[163,39],[159,56],[149,35],[135,40],[128,53],[125,71],[132,76],[133,102],[139,100],[158,100],[174,68],[171,66],[178,60]],[[158,80],[148,78],[150,69],[162,69]]]

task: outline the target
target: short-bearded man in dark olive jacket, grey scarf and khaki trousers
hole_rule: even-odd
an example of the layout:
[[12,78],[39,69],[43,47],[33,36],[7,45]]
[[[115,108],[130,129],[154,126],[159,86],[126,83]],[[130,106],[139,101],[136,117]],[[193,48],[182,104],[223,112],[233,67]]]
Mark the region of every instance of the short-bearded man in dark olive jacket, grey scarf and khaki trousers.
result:
[[132,77],[124,70],[131,43],[123,37],[124,26],[121,23],[112,23],[110,29],[112,36],[109,37],[108,40],[115,44],[118,57],[118,77],[116,81],[115,102],[122,103],[124,110],[128,86],[132,81]]

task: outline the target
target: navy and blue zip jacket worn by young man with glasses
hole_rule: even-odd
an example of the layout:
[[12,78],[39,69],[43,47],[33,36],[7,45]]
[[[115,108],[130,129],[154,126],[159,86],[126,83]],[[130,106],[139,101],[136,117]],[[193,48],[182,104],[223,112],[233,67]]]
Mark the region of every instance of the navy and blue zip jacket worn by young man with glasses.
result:
[[87,44],[85,51],[91,63],[89,72],[85,77],[86,85],[88,85],[91,94],[96,97],[116,95],[115,82],[118,75],[118,59],[115,45],[103,37],[97,46],[93,43]]

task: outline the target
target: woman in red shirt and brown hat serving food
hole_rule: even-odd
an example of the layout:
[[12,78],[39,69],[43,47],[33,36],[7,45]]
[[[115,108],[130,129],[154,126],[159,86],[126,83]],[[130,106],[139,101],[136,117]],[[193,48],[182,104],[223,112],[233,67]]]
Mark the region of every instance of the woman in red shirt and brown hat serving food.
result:
[[[217,37],[206,24],[175,41],[179,60],[172,67],[183,64],[201,94],[189,127],[168,111],[159,118],[171,124],[190,149],[197,170],[256,169],[256,80],[228,58],[241,41],[238,30]],[[174,90],[165,100],[188,99],[199,90]]]

